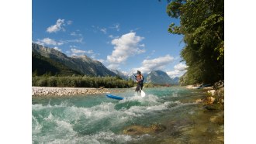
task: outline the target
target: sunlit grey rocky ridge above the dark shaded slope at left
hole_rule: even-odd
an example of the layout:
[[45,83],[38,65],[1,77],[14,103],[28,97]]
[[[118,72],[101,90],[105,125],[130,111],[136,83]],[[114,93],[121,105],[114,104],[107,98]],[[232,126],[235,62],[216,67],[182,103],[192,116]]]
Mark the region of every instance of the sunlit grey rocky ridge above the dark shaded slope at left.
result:
[[[36,43],[32,43],[32,65],[38,66],[42,63],[43,60],[54,61],[56,63],[61,63],[64,67],[68,69],[76,71],[78,74],[89,75],[89,76],[117,76],[111,70],[106,68],[101,62],[97,60],[92,60],[91,58],[83,55],[77,57],[67,57],[64,53],[61,53],[58,50],[54,50],[53,48],[49,48],[47,46],[41,46]],[[34,56],[40,56],[42,59],[39,61],[34,60]],[[51,65],[50,67],[56,67]],[[43,69],[43,67],[36,67],[37,71]],[[38,70],[40,69],[40,70]],[[36,70],[33,67],[33,70]],[[52,71],[49,70],[51,73]],[[56,73],[54,73],[56,74]]]

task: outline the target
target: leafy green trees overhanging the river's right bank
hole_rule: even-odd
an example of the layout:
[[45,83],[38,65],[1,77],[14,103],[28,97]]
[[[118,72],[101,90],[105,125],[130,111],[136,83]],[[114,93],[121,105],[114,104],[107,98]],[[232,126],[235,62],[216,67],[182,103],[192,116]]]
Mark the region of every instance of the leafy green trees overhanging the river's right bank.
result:
[[224,79],[224,0],[168,0],[167,13],[180,19],[168,32],[183,35],[181,57],[187,72],[181,84],[214,83]]

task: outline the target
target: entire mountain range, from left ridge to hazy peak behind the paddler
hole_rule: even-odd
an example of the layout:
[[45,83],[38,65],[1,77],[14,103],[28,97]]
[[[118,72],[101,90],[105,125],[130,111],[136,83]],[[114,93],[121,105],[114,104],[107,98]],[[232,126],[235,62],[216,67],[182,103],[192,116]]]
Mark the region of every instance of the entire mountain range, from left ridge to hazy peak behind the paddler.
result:
[[[109,70],[98,60],[86,55],[67,57],[58,50],[32,43],[32,72],[36,75],[88,75],[119,76],[123,79],[134,79],[133,74],[124,74],[119,70]],[[178,77],[172,79],[164,71],[152,70],[144,74],[144,82],[152,84],[178,84]]]

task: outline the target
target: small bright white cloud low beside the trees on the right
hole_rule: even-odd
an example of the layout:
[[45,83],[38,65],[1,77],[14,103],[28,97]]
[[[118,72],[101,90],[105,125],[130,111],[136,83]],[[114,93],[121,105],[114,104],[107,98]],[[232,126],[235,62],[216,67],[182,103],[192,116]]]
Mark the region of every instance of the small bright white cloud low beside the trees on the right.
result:
[[185,74],[186,72],[186,68],[188,66],[186,66],[184,63],[178,63],[175,65],[175,70],[171,70],[171,71],[167,71],[166,73],[171,77],[182,77],[183,74]]

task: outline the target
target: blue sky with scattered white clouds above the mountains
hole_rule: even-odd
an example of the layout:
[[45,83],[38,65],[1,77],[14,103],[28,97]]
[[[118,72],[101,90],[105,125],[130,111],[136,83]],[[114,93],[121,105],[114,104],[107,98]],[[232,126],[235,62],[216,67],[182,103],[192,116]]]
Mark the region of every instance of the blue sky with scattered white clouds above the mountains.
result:
[[69,57],[87,55],[126,73],[184,74],[182,36],[168,33],[167,2],[33,0],[32,41]]

